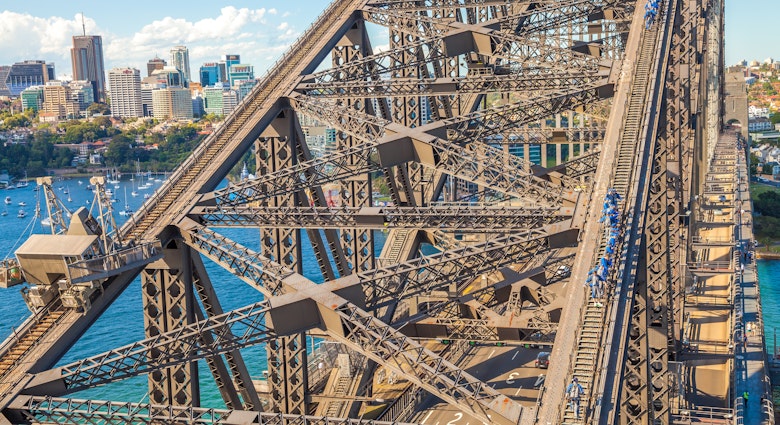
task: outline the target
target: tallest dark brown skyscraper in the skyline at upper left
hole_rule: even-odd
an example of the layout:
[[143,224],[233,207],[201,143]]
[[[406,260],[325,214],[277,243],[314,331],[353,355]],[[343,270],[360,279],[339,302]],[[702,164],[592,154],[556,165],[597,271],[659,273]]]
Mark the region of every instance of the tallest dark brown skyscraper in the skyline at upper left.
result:
[[106,100],[106,71],[103,65],[103,37],[99,35],[74,35],[70,49],[73,79],[92,82],[95,100]]

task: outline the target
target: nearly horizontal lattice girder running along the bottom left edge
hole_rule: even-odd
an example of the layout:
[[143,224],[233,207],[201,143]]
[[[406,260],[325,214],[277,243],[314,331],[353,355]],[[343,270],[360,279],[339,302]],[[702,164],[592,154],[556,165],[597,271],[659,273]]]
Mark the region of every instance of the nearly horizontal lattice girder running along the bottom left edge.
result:
[[[8,410],[18,423],[122,423],[132,425],[404,425],[367,419],[323,418],[306,415],[257,413],[118,401],[78,400],[55,397],[17,397]],[[411,425],[411,424],[407,424]]]

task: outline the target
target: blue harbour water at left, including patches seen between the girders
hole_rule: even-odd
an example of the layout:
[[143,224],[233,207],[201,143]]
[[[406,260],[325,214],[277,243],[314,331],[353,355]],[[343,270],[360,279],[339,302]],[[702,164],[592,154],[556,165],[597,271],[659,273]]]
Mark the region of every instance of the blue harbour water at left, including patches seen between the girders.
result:
[[[118,202],[114,204],[114,207],[117,210],[124,208],[125,191],[128,196],[128,205],[133,210],[136,210],[143,203],[143,194],[147,192],[152,193],[152,191],[161,184],[157,182],[151,189],[139,191],[140,196],[132,197],[130,194],[133,191],[133,185],[136,184],[137,181],[131,182],[127,180],[128,178],[129,176],[122,180],[119,183],[118,188],[112,187],[115,198],[118,199]],[[78,180],[81,180],[83,184],[79,185],[77,183]],[[91,191],[86,190],[87,183],[87,178],[70,179],[57,182],[54,187],[58,188],[56,193],[58,197],[63,200],[67,199],[68,195],[64,194],[64,191],[60,188],[68,188],[72,201],[66,201],[66,204],[69,209],[75,210],[79,206],[87,206],[87,208],[89,208],[87,203],[91,202],[94,197],[94,194]],[[50,233],[48,227],[43,227],[40,224],[40,220],[33,220],[33,212],[38,193],[40,193],[40,197],[42,198],[43,192],[34,191],[32,184],[24,189],[0,190],[0,202],[2,202],[6,196],[10,196],[13,202],[11,205],[7,206],[8,215],[0,216],[0,256],[2,256],[0,258],[13,255],[13,252],[18,248],[19,244],[23,243],[31,232]],[[28,213],[26,218],[16,217],[16,213],[19,209],[17,204],[20,201],[27,203],[27,206],[24,207]],[[5,204],[0,204],[0,211],[5,207]],[[44,207],[42,207],[42,209],[45,210]],[[115,217],[119,226],[126,220],[126,217],[120,216],[118,213]],[[256,229],[217,229],[217,231],[256,251],[259,249],[258,230]],[[383,243],[384,234],[377,232],[377,253],[381,251]],[[314,260],[314,254],[311,245],[308,243],[305,232],[302,232],[302,246],[304,250],[304,275],[309,279],[320,283],[322,281],[322,276],[319,273],[319,267]],[[208,259],[204,259],[204,263],[206,264],[209,277],[215,287],[222,308],[225,311],[243,307],[262,299],[260,293],[238,280],[232,273],[216,266]],[[27,306],[22,300],[18,288],[19,287],[9,289],[0,288],[0,338],[3,339],[11,333],[12,328],[19,326],[30,314]],[[144,339],[142,305],[141,283],[140,278],[137,278],[125,292],[120,295],[117,301],[106,310],[103,316],[101,316],[70,349],[70,351],[61,359],[59,364],[67,364],[75,360],[83,359],[112,348]],[[262,371],[266,369],[267,365],[265,348],[263,346],[249,347],[241,350],[241,352],[250,374],[255,377],[261,376]],[[204,407],[224,408],[224,403],[222,402],[205,362],[198,363],[198,371],[201,378],[201,405]],[[146,402],[148,401],[145,398],[146,391],[146,376],[142,375],[106,386],[74,393],[71,397]]]

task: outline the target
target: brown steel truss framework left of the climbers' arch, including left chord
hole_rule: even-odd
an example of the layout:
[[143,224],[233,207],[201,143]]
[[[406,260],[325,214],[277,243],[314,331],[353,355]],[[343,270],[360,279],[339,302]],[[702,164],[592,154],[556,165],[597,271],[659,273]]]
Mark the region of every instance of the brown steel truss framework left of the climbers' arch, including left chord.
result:
[[[146,338],[27,371],[29,381],[3,389],[3,414],[58,423],[366,423],[307,416],[314,331],[369,359],[367,373],[383,366],[481,422],[526,419],[533,413],[517,401],[399,328],[427,320],[445,324],[449,338],[500,341],[523,287],[537,298],[523,313],[525,330],[559,331],[546,315],[562,301],[546,286],[566,279],[561,267],[574,259],[550,254],[577,243],[572,221],[595,178],[606,131],[597,117],[609,109],[633,4],[335,1],[118,232],[128,245],[164,247],[142,271]],[[388,28],[388,49],[375,51],[385,43],[366,24]],[[332,149],[314,153],[304,120],[334,130]],[[558,150],[553,167],[535,165],[537,144],[568,144],[567,159]],[[522,156],[510,152],[517,146]],[[247,152],[257,177],[217,189]],[[391,205],[374,206],[377,184]],[[257,228],[259,248],[217,227]],[[321,285],[303,276],[304,230]],[[391,231],[380,258],[397,261],[376,260],[376,230]],[[437,237],[447,249],[416,252]],[[203,258],[263,301],[223,311]],[[463,291],[502,270],[511,278]],[[396,314],[441,293],[429,315]],[[462,306],[482,317],[453,313]],[[266,344],[269,409],[278,413],[261,413],[239,351],[258,344]],[[201,360],[227,410],[197,407]],[[56,398],[141,374],[150,405]]]

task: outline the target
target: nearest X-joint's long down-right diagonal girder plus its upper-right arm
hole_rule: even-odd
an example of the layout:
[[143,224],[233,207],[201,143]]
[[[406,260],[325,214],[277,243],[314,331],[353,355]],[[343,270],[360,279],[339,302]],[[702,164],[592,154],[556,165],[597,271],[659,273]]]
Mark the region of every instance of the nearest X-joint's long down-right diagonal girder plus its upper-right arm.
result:
[[[206,240],[204,236],[208,237],[209,241],[221,240],[216,244],[213,242],[208,242],[206,244],[201,242]],[[258,281],[253,283],[254,287],[262,288],[264,287],[265,282],[274,279],[277,280],[274,287],[288,292],[287,299],[292,299],[292,301],[287,301],[286,303],[285,301],[272,302],[275,308],[278,309],[281,308],[281,306],[294,304],[296,301],[309,299],[320,305],[321,308],[330,310],[326,312],[321,309],[320,315],[317,315],[316,319],[323,321],[322,325],[326,326],[326,332],[328,332],[330,337],[337,341],[344,342],[353,350],[391,368],[396,373],[405,376],[410,382],[425,388],[427,391],[441,399],[458,405],[461,409],[465,409],[475,418],[488,420],[489,418],[486,409],[494,410],[496,412],[496,415],[494,415],[492,419],[494,423],[497,421],[503,422],[503,416],[496,417],[497,415],[509,415],[510,417],[515,418],[519,417],[519,406],[512,403],[508,398],[500,395],[484,383],[481,383],[459,370],[454,365],[445,362],[439,356],[421,347],[412,339],[402,335],[390,325],[374,318],[352,302],[336,295],[336,292],[338,292],[344,293],[347,296],[357,296],[357,300],[355,301],[361,302],[362,295],[355,294],[349,290],[350,287],[360,285],[359,273],[319,285],[318,288],[318,285],[305,277],[298,275],[292,270],[286,269],[277,263],[262,259],[259,255],[246,248],[240,247],[238,244],[233,244],[233,246],[237,247],[235,253],[226,252],[224,249],[226,246],[224,242],[225,238],[219,238],[218,235],[215,235],[208,229],[193,228],[191,231],[185,232],[184,237],[188,244],[209,257],[217,257],[214,254],[214,249],[222,251],[222,254],[219,256],[219,258],[221,258],[220,264],[234,273],[242,273],[252,269],[254,275],[261,275],[261,279],[258,279]],[[471,251],[479,250],[479,247],[470,248]],[[500,261],[502,258],[511,256],[511,252],[507,253],[508,250],[506,247],[499,246],[498,248],[499,249],[491,250],[489,252],[492,253],[492,258],[498,257],[496,260]],[[238,257],[239,255],[241,258]],[[455,257],[452,254],[450,254],[450,256]],[[391,286],[390,282],[398,279],[399,276],[412,278],[413,276],[409,275],[414,275],[415,273],[413,272],[419,271],[422,268],[437,271],[439,270],[436,268],[437,266],[453,267],[453,261],[460,261],[461,263],[466,262],[462,255],[456,256],[455,258],[447,258],[445,261],[433,264],[431,264],[432,262],[424,261],[423,259],[422,261],[417,262],[416,268],[406,265],[406,267],[400,267],[400,270],[391,270],[387,275],[382,274],[381,272],[375,272],[372,274],[373,281],[368,282],[369,287],[375,288],[372,284],[378,283],[381,285],[382,289],[386,289]],[[264,265],[259,265],[261,262],[264,263]],[[473,264],[472,268],[461,266],[461,270],[468,269],[469,273],[474,273],[474,270],[479,270],[480,265],[492,266],[495,263],[487,261],[487,259],[482,259],[481,261],[472,260],[470,264]],[[454,271],[458,271],[457,266],[454,268]],[[272,275],[271,273],[279,273],[279,275]],[[281,276],[284,276],[284,278],[281,279]],[[459,274],[455,274],[454,276],[460,277]],[[449,276],[444,276],[442,280],[446,277]],[[249,281],[248,277],[242,277],[242,279]],[[428,277],[422,284],[431,285],[433,281],[434,280],[431,277]],[[399,285],[392,286],[397,287]],[[267,291],[267,289],[264,289],[264,292],[265,291]],[[291,296],[293,298],[290,298]],[[369,294],[367,298],[371,299],[371,295]],[[284,298],[280,298],[280,300],[284,300]],[[300,309],[300,307],[294,308],[296,308],[296,310]],[[330,321],[331,319],[329,319],[329,317],[331,313],[336,314],[338,317],[337,320],[341,322],[340,326],[334,326]],[[276,326],[280,325],[287,326],[284,324],[276,324]],[[308,325],[317,326],[320,324],[309,323]],[[298,326],[300,326],[300,324],[298,324]],[[370,335],[370,338],[366,339],[367,335]],[[406,366],[401,367],[402,364]],[[508,408],[508,410],[505,408]]]

